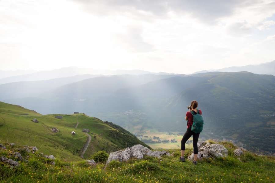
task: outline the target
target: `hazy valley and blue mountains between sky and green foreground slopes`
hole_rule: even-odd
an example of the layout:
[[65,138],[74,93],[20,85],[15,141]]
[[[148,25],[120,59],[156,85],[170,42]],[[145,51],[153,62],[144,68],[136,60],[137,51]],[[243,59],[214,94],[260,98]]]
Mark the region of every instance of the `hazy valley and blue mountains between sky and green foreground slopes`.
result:
[[[158,141],[153,136],[163,142],[175,139],[175,145],[179,145],[186,131],[187,106],[197,100],[205,120],[200,138],[225,138],[273,154],[275,76],[270,70],[275,70],[274,62],[266,63],[268,73],[262,74],[242,71],[184,75],[135,70],[62,77],[62,73],[70,74],[68,70],[80,70],[69,67],[55,70],[59,77],[43,81],[25,81],[36,78],[36,73],[2,78],[22,81],[0,84],[0,101],[41,114],[78,111],[117,124],[149,145]],[[259,72],[264,72],[263,66]],[[43,77],[53,76],[53,71],[43,71],[37,78],[42,73]],[[153,147],[156,142],[151,143]]]

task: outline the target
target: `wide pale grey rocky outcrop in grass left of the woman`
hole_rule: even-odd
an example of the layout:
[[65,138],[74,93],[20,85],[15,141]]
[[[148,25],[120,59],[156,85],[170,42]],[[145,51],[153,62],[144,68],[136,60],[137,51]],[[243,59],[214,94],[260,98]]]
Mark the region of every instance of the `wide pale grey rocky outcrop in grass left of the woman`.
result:
[[109,164],[111,161],[116,160],[119,162],[127,161],[130,158],[143,159],[144,156],[153,156],[161,158],[160,156],[167,155],[170,156],[170,153],[167,151],[151,151],[149,148],[144,147],[143,145],[134,145],[128,147],[124,150],[119,150],[116,152],[111,152],[106,164]]

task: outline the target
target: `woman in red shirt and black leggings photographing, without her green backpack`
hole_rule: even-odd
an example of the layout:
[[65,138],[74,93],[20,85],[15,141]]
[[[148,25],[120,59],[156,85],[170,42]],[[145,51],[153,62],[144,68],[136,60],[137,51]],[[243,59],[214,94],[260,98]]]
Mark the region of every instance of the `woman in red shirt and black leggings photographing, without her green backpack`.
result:
[[191,107],[189,108],[189,111],[186,113],[186,117],[185,120],[187,121],[187,131],[185,132],[185,134],[183,135],[182,138],[182,146],[181,146],[181,157],[180,160],[182,162],[185,162],[185,158],[184,158],[184,152],[185,152],[185,143],[186,141],[193,135],[193,148],[194,148],[194,160],[193,163],[196,165],[197,164],[197,157],[198,157],[198,140],[199,140],[199,136],[200,133],[195,133],[193,131],[191,131],[191,126],[193,125],[193,115],[190,113],[190,111],[192,110],[193,113],[197,114],[200,113],[201,114],[201,110],[197,110],[197,106],[198,106],[198,102],[196,100],[193,100],[191,102]]

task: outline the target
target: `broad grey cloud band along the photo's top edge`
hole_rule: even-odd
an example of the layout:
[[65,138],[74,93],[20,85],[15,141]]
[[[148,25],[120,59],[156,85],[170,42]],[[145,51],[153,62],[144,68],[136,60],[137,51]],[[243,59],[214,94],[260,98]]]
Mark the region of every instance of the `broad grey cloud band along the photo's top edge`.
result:
[[169,12],[179,14],[189,14],[193,18],[197,18],[202,22],[213,22],[217,18],[229,16],[233,13],[234,7],[238,7],[240,1],[189,1],[189,0],[72,0],[81,2],[83,8],[97,15],[108,15],[110,13],[131,12],[138,13],[140,11],[149,12],[157,17],[166,17]]

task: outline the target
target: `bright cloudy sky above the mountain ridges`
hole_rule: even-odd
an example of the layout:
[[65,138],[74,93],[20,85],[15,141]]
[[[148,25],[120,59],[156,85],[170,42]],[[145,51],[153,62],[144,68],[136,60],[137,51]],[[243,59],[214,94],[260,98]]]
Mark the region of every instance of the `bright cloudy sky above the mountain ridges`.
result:
[[275,60],[275,0],[0,0],[0,70],[192,74]]

